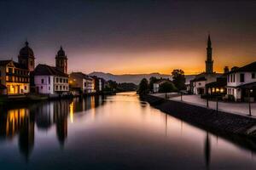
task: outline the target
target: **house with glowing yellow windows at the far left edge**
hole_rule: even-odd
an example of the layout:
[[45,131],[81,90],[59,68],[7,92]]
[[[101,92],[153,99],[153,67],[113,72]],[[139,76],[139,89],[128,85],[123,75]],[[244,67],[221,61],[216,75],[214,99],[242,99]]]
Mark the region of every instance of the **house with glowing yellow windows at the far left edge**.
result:
[[15,95],[28,94],[29,71],[24,65],[13,60],[0,61],[1,94]]

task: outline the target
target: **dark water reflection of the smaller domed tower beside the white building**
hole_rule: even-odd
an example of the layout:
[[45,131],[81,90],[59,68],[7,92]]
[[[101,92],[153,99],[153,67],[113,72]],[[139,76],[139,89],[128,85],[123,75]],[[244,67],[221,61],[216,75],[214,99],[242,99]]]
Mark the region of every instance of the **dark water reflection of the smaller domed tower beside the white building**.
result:
[[67,115],[69,111],[69,101],[62,100],[54,103],[54,122],[56,123],[56,135],[61,146],[67,139]]

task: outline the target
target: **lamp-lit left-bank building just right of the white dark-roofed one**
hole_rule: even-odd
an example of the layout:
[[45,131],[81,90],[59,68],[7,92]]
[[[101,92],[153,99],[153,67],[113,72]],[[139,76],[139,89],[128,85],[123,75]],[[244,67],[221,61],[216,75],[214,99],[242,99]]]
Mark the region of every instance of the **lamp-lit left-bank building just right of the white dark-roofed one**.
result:
[[93,78],[82,72],[73,72],[69,75],[69,87],[73,94],[91,94],[95,92]]

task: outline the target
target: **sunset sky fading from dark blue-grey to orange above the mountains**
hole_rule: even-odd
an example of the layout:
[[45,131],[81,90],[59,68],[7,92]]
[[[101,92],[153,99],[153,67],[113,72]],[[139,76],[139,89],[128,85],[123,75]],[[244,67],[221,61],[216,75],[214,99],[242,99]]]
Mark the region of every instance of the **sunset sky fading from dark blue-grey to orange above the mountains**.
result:
[[214,71],[256,60],[256,2],[165,0],[0,1],[0,59],[15,59],[26,38],[36,63],[68,71],[186,74],[205,70],[207,34]]

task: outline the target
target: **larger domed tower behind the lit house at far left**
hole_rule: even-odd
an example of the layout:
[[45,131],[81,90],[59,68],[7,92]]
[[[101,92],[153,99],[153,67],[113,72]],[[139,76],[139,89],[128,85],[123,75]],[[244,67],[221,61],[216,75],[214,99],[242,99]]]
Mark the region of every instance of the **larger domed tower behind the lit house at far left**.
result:
[[28,46],[28,42],[25,42],[25,47],[20,49],[18,55],[20,65],[24,65],[27,70],[34,71],[35,69],[35,56],[32,48]]

